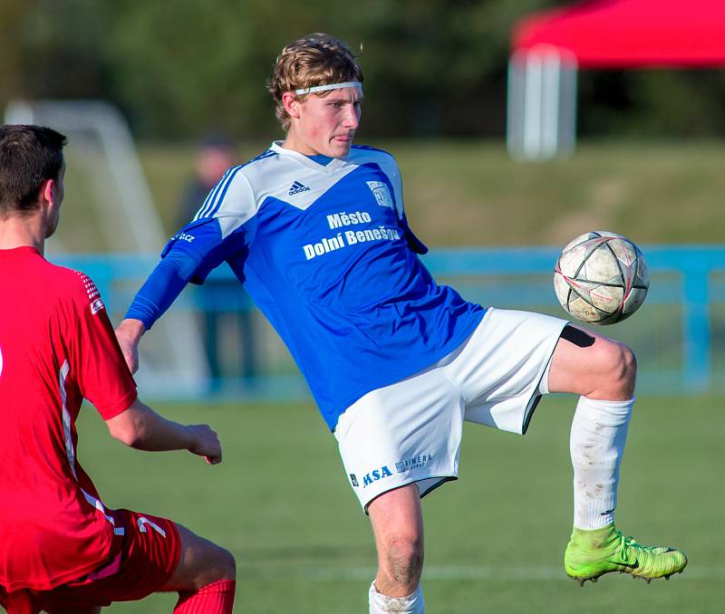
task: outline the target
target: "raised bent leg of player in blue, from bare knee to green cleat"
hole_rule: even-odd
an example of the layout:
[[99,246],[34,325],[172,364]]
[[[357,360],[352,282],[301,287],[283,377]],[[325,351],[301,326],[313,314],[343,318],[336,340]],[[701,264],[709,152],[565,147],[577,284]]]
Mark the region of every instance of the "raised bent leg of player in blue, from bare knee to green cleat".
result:
[[574,529],[565,552],[565,571],[580,584],[610,571],[669,578],[687,564],[682,552],[642,546],[614,527],[636,370],[633,351],[623,343],[572,326],[552,357],[549,391],[581,395],[570,437]]

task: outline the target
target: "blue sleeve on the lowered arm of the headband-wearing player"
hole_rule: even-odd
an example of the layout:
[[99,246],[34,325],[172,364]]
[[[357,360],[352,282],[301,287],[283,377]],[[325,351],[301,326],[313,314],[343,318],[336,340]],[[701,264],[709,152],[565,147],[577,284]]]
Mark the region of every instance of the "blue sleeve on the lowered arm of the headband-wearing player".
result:
[[161,262],[133,298],[126,318],[140,320],[148,331],[187,283],[204,283],[209,273],[243,245],[241,229],[222,237],[218,219],[184,226],[161,252]]

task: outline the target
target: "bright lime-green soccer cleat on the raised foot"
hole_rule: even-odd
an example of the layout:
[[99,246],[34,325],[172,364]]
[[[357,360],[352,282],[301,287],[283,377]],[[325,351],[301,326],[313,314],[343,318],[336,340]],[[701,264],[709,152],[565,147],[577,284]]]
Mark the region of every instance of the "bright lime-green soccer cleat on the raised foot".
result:
[[595,582],[599,576],[612,571],[629,573],[647,583],[656,578],[669,580],[687,565],[684,552],[662,546],[643,546],[631,537],[624,537],[614,523],[584,531],[574,529],[564,553],[566,575],[584,586],[586,580]]

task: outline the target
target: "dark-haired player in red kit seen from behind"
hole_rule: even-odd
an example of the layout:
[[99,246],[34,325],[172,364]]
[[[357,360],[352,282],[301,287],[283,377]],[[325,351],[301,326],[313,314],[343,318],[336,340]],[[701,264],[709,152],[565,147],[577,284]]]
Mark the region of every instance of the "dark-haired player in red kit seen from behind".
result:
[[112,437],[221,461],[208,425],[171,422],[136,385],[92,281],[48,263],[63,201],[58,132],[0,127],[0,605],[99,612],[177,591],[174,612],[231,612],[232,555],[166,518],[111,510],[75,457],[83,398]]

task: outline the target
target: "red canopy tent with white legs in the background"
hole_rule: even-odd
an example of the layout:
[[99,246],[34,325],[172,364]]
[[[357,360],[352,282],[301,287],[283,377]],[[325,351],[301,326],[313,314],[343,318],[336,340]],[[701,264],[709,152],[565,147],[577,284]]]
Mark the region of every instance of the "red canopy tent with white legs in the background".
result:
[[[725,0],[590,0],[524,18],[515,26],[511,42],[509,149],[517,149],[510,133],[512,128],[517,132],[511,124],[520,111],[520,120],[533,121],[529,128],[544,130],[538,148],[531,147],[536,139],[529,134],[528,154],[533,155],[523,152],[523,157],[548,158],[562,145],[566,149],[566,142],[552,143],[553,129],[545,126],[552,120],[558,126],[554,131],[565,141],[571,139],[573,146],[573,133],[567,137],[573,127],[560,125],[573,117],[562,117],[560,105],[567,103],[565,96],[575,94],[571,81],[577,68],[725,65]],[[532,94],[532,88],[538,92]],[[521,100],[512,100],[517,97]],[[551,109],[554,102],[556,112]],[[538,119],[535,110],[527,108],[531,104],[540,107]],[[568,104],[573,112],[573,101]],[[526,126],[517,132],[525,133]]]

